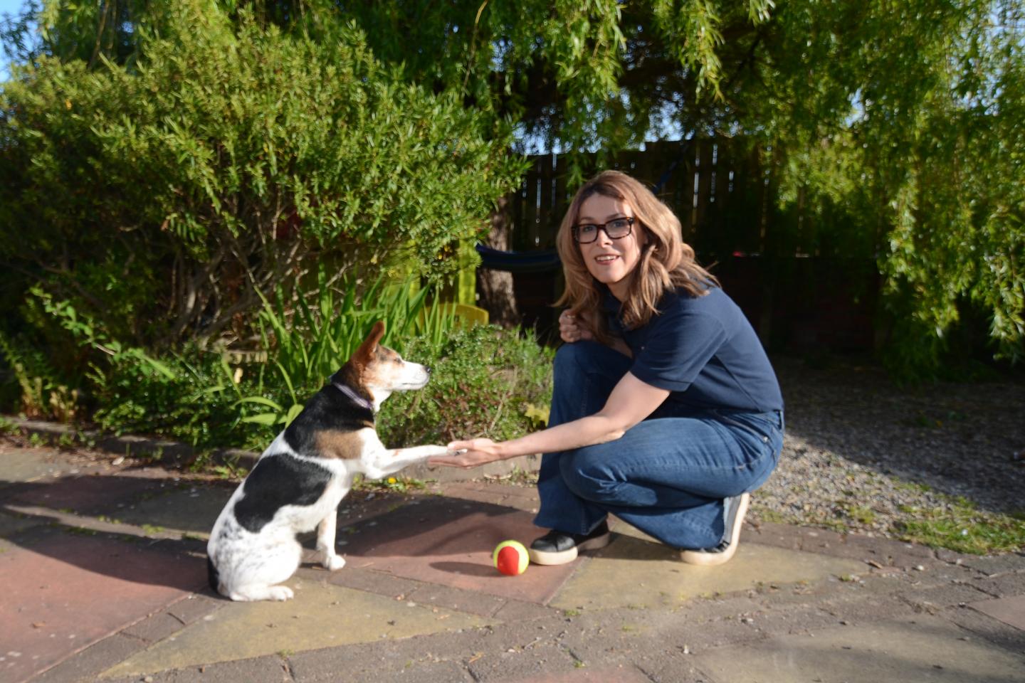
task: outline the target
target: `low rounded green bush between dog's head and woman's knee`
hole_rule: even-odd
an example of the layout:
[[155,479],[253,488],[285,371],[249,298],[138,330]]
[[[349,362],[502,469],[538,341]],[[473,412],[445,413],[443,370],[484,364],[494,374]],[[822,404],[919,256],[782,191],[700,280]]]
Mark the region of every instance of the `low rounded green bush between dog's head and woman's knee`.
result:
[[406,357],[432,369],[419,391],[394,393],[377,431],[385,445],[503,440],[538,426],[551,402],[550,349],[494,326],[460,329],[438,345],[413,341]]

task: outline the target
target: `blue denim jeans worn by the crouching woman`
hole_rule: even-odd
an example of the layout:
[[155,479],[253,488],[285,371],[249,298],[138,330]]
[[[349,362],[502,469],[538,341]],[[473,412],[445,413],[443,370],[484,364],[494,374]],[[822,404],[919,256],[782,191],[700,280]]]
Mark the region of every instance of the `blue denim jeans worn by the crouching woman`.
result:
[[[600,411],[631,365],[592,341],[556,353],[548,424]],[[711,548],[726,530],[724,500],[757,488],[783,449],[780,412],[694,412],[671,398],[615,441],[541,458],[534,523],[587,533],[608,513],[675,548]]]

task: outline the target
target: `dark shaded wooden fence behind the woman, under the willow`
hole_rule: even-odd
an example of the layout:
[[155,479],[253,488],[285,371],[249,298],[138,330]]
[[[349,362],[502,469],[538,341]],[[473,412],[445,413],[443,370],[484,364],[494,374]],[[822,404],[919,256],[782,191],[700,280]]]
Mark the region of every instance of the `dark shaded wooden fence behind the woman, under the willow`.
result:
[[[767,347],[871,349],[877,275],[870,255],[820,253],[802,198],[780,209],[772,165],[762,163],[769,155],[747,147],[731,139],[649,142],[644,151],[619,154],[609,168],[647,183],[676,214],[685,242],[720,278]],[[506,208],[509,246],[517,252],[555,248],[576,189],[566,186],[564,158],[531,161]],[[598,169],[586,170],[589,177]],[[514,273],[514,287],[524,325],[550,338],[561,272]]]

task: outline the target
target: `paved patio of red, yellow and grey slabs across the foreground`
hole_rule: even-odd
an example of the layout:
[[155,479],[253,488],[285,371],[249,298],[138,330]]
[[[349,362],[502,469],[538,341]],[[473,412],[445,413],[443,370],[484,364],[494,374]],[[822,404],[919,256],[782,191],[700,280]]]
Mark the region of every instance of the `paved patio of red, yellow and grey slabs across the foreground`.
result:
[[752,522],[693,567],[613,518],[608,548],[503,577],[536,490],[446,481],[352,492],[343,569],[305,535],[295,600],[235,603],[196,540],[234,486],[123,463],[0,443],[0,683],[1025,681],[1020,554]]

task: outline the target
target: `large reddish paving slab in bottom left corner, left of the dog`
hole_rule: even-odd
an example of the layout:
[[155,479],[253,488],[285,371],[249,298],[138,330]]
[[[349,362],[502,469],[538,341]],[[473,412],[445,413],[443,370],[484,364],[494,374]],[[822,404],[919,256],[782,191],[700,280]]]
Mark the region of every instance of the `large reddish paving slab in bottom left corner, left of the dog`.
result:
[[5,681],[26,679],[205,583],[200,560],[163,543],[49,528],[11,543],[0,554]]

